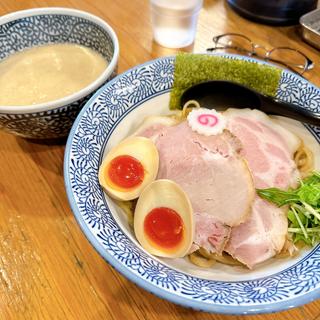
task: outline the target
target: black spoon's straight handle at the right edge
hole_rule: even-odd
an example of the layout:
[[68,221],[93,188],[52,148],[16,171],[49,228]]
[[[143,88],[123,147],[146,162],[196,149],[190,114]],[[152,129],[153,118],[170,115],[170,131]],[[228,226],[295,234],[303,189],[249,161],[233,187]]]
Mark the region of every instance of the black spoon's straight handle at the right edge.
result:
[[266,113],[286,116],[307,124],[320,126],[320,113],[268,96],[261,96],[261,109]]

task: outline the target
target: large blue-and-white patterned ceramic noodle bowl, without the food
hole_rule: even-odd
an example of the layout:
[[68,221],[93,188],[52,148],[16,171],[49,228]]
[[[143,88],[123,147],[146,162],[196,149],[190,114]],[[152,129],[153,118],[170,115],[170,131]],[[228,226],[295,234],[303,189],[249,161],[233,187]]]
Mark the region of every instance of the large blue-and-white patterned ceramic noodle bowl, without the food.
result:
[[[228,59],[257,60],[227,55]],[[274,258],[255,270],[187,259],[160,259],[136,241],[124,212],[102,191],[98,169],[104,154],[128,136],[146,115],[168,114],[174,58],[135,67],[100,89],[86,104],[69,135],[64,163],[67,194],[83,232],[100,255],[127,278],[174,303],[208,312],[275,312],[320,297],[320,246],[294,258]],[[320,89],[283,71],[277,97],[320,111]],[[320,130],[289,121],[320,148]],[[317,166],[320,168],[320,164]]]

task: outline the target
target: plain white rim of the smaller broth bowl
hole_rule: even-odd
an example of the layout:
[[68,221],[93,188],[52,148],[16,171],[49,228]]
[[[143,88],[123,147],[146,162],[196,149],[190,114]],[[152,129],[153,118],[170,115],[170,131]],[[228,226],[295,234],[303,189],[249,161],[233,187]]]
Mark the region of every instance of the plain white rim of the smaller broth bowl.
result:
[[103,73],[93,82],[91,82],[88,86],[84,87],[83,89],[70,94],[68,96],[62,97],[60,99],[34,104],[34,105],[22,105],[22,106],[3,106],[0,105],[0,114],[26,114],[26,113],[35,113],[35,112],[43,112],[53,110],[59,107],[65,107],[69,104],[74,103],[77,100],[84,98],[85,96],[89,95],[90,93],[94,93],[96,89],[98,89],[112,74],[112,72],[116,69],[118,59],[119,59],[119,41],[115,31],[112,27],[103,19],[89,13],[86,11],[81,11],[77,9],[70,9],[64,7],[47,7],[47,8],[34,8],[34,9],[27,9],[21,11],[15,11],[0,17],[0,26],[6,24],[8,22],[22,19],[26,17],[38,16],[38,15],[46,15],[46,14],[57,14],[57,15],[69,15],[75,16],[79,18],[86,19],[91,21],[102,29],[106,30],[109,34],[113,46],[113,56],[108,64],[107,68],[103,71]]

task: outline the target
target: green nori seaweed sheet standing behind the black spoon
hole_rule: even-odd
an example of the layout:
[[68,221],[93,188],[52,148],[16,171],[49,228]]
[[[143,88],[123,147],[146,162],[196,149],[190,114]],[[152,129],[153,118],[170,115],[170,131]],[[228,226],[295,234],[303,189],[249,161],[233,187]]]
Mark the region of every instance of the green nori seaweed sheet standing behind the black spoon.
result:
[[273,66],[244,60],[181,53],[175,60],[170,109],[181,109],[180,97],[183,92],[192,85],[207,80],[238,82],[265,95],[275,96],[281,72],[281,69]]

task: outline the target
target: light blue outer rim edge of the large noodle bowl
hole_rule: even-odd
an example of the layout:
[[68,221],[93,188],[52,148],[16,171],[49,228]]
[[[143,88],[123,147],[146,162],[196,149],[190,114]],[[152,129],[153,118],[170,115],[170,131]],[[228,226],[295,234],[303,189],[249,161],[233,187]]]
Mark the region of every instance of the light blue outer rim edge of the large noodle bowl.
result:
[[[202,53],[200,53],[202,54]],[[239,59],[243,60],[248,60],[248,61],[253,61],[253,62],[258,62],[260,64],[266,64],[266,65],[273,65],[270,62],[265,62],[261,61],[259,59],[255,59],[252,57],[244,57],[241,55],[237,54],[213,54],[215,56],[227,56],[228,58],[236,57]],[[319,298],[319,289],[316,289],[314,291],[305,293],[302,297],[295,297],[287,301],[282,301],[282,302],[272,302],[269,304],[264,304],[264,305],[219,305],[219,304],[206,304],[201,301],[194,301],[194,300],[188,300],[185,296],[179,296],[174,294],[173,292],[167,292],[163,290],[161,287],[155,285],[154,283],[150,283],[143,279],[142,277],[137,276],[127,268],[124,264],[119,263],[119,261],[113,257],[107,250],[105,250],[101,242],[99,242],[96,237],[93,235],[92,230],[89,228],[87,222],[81,215],[78,204],[76,203],[76,200],[73,196],[73,187],[71,185],[71,181],[69,179],[69,164],[70,164],[70,155],[71,155],[71,149],[72,149],[72,143],[74,139],[74,135],[76,131],[79,128],[79,123],[83,117],[83,115],[87,112],[87,110],[90,108],[92,103],[101,95],[101,93],[107,88],[112,85],[114,85],[121,77],[123,77],[126,74],[129,74],[130,72],[137,70],[145,65],[149,65],[151,63],[156,63],[159,60],[163,59],[175,59],[174,56],[164,56],[160,57],[157,59],[152,59],[147,62],[138,64],[123,73],[119,74],[116,78],[114,78],[112,81],[109,83],[105,84],[102,88],[100,88],[91,98],[89,101],[86,102],[84,108],[80,111],[78,114],[76,120],[73,123],[73,126],[70,130],[67,143],[66,143],[66,148],[65,148],[65,153],[64,153],[64,184],[66,188],[66,194],[68,197],[69,205],[70,208],[73,212],[73,215],[79,224],[79,227],[81,231],[84,233],[85,237],[89,241],[89,243],[92,245],[93,249],[97,251],[97,253],[107,262],[109,263],[112,267],[114,267],[119,273],[121,273],[123,276],[125,276],[127,279],[132,281],[133,283],[137,284],[144,290],[151,292],[155,294],[156,296],[165,299],[167,301],[173,302],[175,304],[178,304],[180,306],[183,306],[185,308],[191,308],[194,310],[198,311],[204,311],[204,312],[209,312],[209,313],[218,313],[218,314],[226,314],[226,315],[254,315],[254,314],[267,314],[267,313],[275,313],[275,312],[280,312],[280,311],[285,311],[285,310],[290,310],[299,306],[302,306],[306,303],[311,303],[312,301],[316,300]],[[276,66],[279,68],[279,66]],[[283,68],[280,68],[283,69]],[[320,90],[318,87],[316,87],[314,84],[312,84],[310,81],[307,79],[302,78],[301,76],[289,71],[289,70],[284,70],[286,74],[292,75],[294,78],[301,79],[303,82],[308,83],[311,87]],[[283,77],[283,73],[281,74],[281,77]],[[278,86],[280,86],[280,82]],[[162,93],[169,92],[169,90],[165,90]]]

